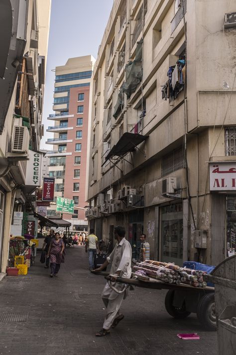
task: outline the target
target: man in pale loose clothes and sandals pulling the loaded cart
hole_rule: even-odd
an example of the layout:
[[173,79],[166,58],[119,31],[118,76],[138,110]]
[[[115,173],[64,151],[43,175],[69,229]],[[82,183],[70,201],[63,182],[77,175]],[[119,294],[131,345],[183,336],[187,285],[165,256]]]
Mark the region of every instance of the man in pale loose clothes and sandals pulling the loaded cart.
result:
[[132,249],[124,236],[125,228],[123,226],[115,227],[114,237],[117,240],[117,244],[104,264],[100,268],[94,270],[94,272],[99,272],[105,269],[109,264],[112,264],[110,280],[119,292],[117,293],[113,291],[109,284],[106,284],[102,293],[102,299],[106,306],[107,314],[104,320],[103,328],[96,334],[96,337],[104,337],[110,334],[110,328],[115,328],[124,318],[124,316],[119,313],[119,309],[123,299],[127,296],[127,285],[116,282],[118,277],[125,279],[129,279],[131,277]]

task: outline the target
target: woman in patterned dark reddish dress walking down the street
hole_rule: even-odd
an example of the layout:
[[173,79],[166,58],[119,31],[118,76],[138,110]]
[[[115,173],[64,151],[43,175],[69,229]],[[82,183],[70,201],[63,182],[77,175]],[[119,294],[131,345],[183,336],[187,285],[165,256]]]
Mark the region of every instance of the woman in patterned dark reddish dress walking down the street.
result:
[[55,233],[54,239],[52,239],[47,253],[47,257],[50,257],[51,263],[50,277],[57,276],[58,271],[60,270],[64,248],[65,246],[63,240],[60,238],[60,234]]

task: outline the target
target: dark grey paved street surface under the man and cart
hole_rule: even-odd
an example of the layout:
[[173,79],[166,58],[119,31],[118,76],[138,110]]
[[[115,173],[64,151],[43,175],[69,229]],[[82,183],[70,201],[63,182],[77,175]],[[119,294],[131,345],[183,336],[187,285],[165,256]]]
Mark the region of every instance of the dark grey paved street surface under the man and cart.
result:
[[[105,310],[102,276],[88,270],[84,247],[67,249],[58,278],[36,263],[26,276],[0,283],[0,354],[12,355],[217,355],[217,333],[201,329],[196,315],[171,318],[166,291],[136,288],[122,304],[125,318],[111,334],[95,337]],[[180,340],[177,333],[198,333]]]

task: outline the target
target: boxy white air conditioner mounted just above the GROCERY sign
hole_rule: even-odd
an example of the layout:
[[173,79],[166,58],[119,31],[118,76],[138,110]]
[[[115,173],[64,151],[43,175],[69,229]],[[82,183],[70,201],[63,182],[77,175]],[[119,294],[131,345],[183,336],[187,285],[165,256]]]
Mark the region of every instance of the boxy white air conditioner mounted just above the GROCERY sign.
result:
[[28,154],[29,150],[29,131],[27,127],[14,126],[11,141],[12,153]]

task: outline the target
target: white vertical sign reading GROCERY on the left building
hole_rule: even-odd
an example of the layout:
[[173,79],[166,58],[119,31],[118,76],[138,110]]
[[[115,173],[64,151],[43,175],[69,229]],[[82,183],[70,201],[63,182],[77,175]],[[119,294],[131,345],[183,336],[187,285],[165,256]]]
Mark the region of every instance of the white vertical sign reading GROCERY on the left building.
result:
[[41,185],[41,162],[43,153],[29,149],[29,160],[26,165],[25,185],[40,186]]

